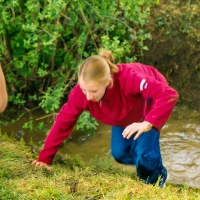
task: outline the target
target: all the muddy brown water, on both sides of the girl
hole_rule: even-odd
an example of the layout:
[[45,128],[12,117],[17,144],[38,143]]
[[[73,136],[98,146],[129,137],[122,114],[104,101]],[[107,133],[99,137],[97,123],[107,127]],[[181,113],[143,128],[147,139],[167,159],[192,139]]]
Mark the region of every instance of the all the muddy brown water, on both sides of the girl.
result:
[[[23,122],[26,120],[26,117],[22,119]],[[12,132],[15,136],[21,134],[26,142],[32,138],[35,144],[41,144],[45,134],[27,132],[22,129],[21,124],[22,122],[17,122],[1,129],[8,133]],[[80,156],[83,161],[108,155],[110,131],[110,126],[100,124],[96,134],[90,137],[74,132],[60,152]],[[160,145],[163,163],[169,172],[168,182],[200,188],[200,112],[176,106],[161,131]]]

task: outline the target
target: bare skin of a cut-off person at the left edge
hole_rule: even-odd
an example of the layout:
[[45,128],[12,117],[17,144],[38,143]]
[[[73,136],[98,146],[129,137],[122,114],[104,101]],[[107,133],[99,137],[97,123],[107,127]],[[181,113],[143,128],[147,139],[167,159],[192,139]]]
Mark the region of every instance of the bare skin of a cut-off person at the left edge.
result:
[[2,113],[8,102],[8,94],[6,90],[6,81],[0,64],[0,113]]

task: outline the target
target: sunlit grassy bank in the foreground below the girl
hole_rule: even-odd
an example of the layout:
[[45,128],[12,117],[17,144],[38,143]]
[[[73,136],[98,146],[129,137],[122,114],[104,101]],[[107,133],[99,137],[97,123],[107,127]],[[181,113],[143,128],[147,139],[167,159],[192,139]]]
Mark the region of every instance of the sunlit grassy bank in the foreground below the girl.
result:
[[57,156],[51,171],[36,170],[37,155],[23,142],[0,134],[0,199],[200,199],[200,190],[167,184],[163,189],[145,185],[130,170],[120,170],[112,159],[83,163]]

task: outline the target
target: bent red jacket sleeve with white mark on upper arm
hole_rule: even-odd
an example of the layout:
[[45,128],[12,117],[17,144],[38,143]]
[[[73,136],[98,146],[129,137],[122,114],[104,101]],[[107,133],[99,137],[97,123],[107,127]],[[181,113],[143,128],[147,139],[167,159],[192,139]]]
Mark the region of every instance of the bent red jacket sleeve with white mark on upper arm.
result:
[[141,94],[146,100],[144,120],[161,130],[178,101],[178,93],[166,80],[137,74],[132,79],[133,93]]

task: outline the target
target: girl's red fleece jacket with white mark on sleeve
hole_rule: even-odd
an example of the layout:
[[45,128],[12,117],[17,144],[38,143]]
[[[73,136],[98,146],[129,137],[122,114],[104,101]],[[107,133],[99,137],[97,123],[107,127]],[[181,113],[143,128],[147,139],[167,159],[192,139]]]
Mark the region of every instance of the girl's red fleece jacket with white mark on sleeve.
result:
[[61,108],[46,138],[39,161],[50,164],[62,142],[72,132],[79,115],[88,110],[100,122],[126,127],[133,122],[150,122],[161,130],[168,120],[178,93],[157,69],[140,63],[119,64],[114,84],[107,88],[101,102],[86,99],[77,84]]

